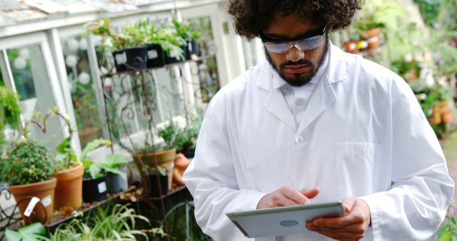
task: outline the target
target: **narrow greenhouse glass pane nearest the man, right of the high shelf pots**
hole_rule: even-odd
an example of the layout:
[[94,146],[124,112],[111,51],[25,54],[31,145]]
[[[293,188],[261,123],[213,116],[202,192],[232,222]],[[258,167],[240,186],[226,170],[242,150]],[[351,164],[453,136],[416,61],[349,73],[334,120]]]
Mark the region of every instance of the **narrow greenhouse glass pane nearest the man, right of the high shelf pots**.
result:
[[202,57],[196,63],[191,63],[193,83],[200,85],[199,90],[194,91],[194,95],[204,103],[209,103],[221,88],[216,62],[217,46],[211,28],[211,19],[209,16],[204,16],[188,19],[188,21],[194,28],[201,31],[201,37],[197,42]]

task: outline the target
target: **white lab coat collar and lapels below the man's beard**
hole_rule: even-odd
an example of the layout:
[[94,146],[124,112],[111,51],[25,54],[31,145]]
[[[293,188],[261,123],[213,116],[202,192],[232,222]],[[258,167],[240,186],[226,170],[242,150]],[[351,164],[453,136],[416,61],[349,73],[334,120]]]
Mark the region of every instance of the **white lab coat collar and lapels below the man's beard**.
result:
[[303,114],[303,119],[298,126],[298,131],[296,129],[295,119],[288,110],[283,94],[279,88],[273,88],[273,72],[276,73],[276,71],[271,68],[268,62],[263,63],[263,69],[258,79],[258,87],[268,91],[268,96],[263,102],[263,108],[266,108],[266,111],[282,120],[297,133],[305,130],[331,103],[336,101],[336,93],[333,91],[332,84],[343,81],[346,78],[346,63],[343,59],[343,52],[336,46],[331,45],[329,56],[326,73],[324,73],[321,81],[318,81],[316,89],[311,95],[311,99]]

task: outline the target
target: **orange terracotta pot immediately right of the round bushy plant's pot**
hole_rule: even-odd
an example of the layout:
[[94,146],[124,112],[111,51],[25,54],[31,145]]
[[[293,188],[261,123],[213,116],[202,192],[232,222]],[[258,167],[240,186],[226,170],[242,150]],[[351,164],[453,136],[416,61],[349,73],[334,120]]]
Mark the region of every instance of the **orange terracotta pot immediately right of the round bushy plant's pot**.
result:
[[57,173],[55,207],[81,207],[83,203],[83,174],[82,163],[74,163],[73,168]]

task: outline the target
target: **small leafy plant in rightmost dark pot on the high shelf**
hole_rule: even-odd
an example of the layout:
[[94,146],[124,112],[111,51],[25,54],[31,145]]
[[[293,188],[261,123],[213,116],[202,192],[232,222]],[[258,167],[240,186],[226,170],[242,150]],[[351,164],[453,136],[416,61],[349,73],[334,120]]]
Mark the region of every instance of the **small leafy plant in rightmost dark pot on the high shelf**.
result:
[[199,56],[199,44],[196,42],[200,38],[201,32],[193,29],[191,24],[184,24],[177,19],[172,20],[173,26],[176,29],[176,35],[186,41],[185,56],[186,59],[191,59],[192,55]]

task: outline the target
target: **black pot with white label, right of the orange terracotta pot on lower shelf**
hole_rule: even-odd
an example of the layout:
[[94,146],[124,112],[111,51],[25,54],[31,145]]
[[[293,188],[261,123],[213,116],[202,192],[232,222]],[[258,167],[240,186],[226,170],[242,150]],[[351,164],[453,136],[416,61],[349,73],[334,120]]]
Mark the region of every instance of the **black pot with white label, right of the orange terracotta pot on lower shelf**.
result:
[[105,200],[108,190],[106,188],[106,175],[101,178],[92,179],[89,175],[83,178],[83,200],[84,202],[99,202]]

